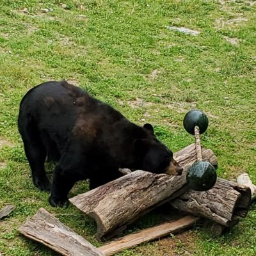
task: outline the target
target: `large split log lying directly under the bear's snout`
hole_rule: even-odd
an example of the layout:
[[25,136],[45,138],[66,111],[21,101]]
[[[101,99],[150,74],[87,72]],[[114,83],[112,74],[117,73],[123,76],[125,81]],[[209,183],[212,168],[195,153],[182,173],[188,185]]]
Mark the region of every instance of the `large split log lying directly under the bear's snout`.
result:
[[[212,150],[203,149],[205,160],[216,165]],[[195,144],[174,154],[186,169],[196,161]],[[180,176],[154,174],[138,170],[81,195],[70,202],[91,216],[97,223],[97,239],[121,232],[134,220],[186,190],[186,172]],[[112,233],[113,232],[113,233]]]

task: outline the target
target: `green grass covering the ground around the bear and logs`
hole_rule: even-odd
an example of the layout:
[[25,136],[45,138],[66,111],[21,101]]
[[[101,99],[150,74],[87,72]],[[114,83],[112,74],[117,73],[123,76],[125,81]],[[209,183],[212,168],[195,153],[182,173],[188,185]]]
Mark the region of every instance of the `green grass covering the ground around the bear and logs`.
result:
[[[132,122],[151,122],[173,151],[193,143],[182,127],[186,111],[202,109],[210,121],[202,143],[218,156],[218,175],[235,179],[247,172],[256,184],[253,1],[65,3],[67,8],[53,0],[0,2],[0,208],[17,206],[12,216],[0,222],[2,255],[56,255],[17,231],[39,207],[95,246],[101,244],[95,239],[92,220],[74,207],[50,207],[49,195],[38,191],[29,177],[17,114],[24,93],[44,81],[67,79]],[[28,12],[20,12],[24,8]],[[52,11],[43,13],[41,8]],[[184,35],[166,26],[201,33]],[[235,38],[236,44],[228,38]],[[47,168],[51,175],[52,166]],[[80,182],[72,195],[86,189],[86,182]],[[157,221],[148,216],[131,230]],[[255,224],[252,205],[248,216],[221,237],[214,238],[209,228],[198,227],[187,237],[175,236],[172,250],[168,243],[174,243],[173,239],[167,239],[164,245],[161,241],[143,244],[118,255],[255,255]]]

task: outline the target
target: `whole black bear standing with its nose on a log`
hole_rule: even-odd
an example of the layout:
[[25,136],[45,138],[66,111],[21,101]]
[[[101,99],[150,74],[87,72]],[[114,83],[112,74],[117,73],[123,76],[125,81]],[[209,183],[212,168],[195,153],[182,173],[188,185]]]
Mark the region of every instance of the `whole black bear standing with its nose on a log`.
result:
[[[19,132],[33,182],[51,190],[52,206],[63,206],[78,180],[90,189],[120,177],[119,168],[180,175],[173,153],[157,140],[152,125],[129,122],[108,104],[67,81],[29,90],[20,102]],[[52,186],[45,159],[57,161]]]

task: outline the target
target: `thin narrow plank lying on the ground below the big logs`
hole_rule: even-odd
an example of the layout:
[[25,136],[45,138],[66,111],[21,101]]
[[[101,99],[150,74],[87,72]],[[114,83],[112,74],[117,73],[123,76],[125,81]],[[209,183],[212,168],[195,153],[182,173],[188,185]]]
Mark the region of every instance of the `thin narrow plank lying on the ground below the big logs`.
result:
[[145,228],[140,232],[124,236],[116,241],[100,246],[98,250],[106,256],[113,255],[132,246],[167,236],[170,233],[177,234],[194,225],[198,219],[198,217],[188,215],[180,220],[166,221],[161,225]]

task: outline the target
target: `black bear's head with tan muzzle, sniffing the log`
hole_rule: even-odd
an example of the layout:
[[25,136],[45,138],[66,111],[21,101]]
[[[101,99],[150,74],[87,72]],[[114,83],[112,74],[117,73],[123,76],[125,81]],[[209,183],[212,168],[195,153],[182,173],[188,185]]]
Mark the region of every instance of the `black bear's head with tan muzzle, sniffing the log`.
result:
[[182,168],[173,159],[173,152],[157,140],[152,125],[143,126],[147,136],[134,140],[134,149],[140,157],[141,169],[152,173],[181,175]]

